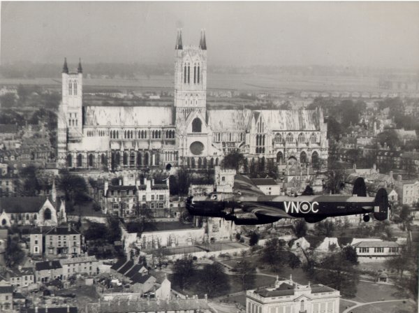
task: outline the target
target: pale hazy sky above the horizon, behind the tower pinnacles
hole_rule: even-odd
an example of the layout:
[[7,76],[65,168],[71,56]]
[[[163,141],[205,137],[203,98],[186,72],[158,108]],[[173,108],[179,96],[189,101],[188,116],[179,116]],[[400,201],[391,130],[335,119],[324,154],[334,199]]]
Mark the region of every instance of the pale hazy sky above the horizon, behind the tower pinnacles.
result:
[[173,61],[207,34],[216,65],[419,68],[419,2],[1,2],[1,61]]

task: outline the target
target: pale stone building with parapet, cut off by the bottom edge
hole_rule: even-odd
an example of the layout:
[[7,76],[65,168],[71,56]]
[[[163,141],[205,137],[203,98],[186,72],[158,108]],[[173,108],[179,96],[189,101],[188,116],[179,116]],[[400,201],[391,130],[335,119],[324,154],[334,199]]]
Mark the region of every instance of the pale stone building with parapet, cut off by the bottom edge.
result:
[[247,313],[339,313],[339,291],[321,284],[277,281],[272,288],[246,292]]

